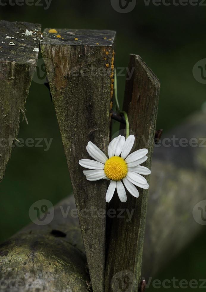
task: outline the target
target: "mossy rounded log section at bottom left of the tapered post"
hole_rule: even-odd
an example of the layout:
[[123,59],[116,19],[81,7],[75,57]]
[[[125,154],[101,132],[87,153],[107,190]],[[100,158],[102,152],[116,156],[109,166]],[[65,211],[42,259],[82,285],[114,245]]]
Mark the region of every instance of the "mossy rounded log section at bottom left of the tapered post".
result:
[[3,291],[86,291],[89,275],[81,230],[77,217],[62,215],[67,206],[75,208],[73,197],[56,206],[50,224],[37,220],[1,245]]

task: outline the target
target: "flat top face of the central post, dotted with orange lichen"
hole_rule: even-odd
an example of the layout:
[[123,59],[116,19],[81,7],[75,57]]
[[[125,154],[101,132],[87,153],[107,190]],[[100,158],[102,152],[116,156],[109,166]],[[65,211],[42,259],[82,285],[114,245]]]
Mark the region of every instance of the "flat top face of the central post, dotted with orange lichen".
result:
[[113,46],[115,31],[93,29],[51,29],[43,32],[41,44],[79,45],[79,46]]

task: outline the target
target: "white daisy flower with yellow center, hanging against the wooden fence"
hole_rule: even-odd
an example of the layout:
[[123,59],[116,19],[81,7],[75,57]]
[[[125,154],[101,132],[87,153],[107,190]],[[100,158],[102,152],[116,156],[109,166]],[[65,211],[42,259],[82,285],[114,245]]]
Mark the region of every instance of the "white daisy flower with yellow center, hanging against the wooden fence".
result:
[[125,187],[136,198],[139,197],[139,192],[135,186],[143,189],[149,188],[147,180],[141,174],[147,175],[151,171],[147,167],[140,165],[147,160],[148,150],[139,149],[129,155],[134,140],[134,135],[128,136],[126,140],[121,135],[114,138],[108,146],[109,158],[89,141],[86,147],[87,152],[95,160],[79,160],[79,164],[82,167],[90,169],[83,170],[88,181],[98,181],[102,178],[110,180],[106,193],[106,202],[111,201],[116,188],[121,202],[127,201]]

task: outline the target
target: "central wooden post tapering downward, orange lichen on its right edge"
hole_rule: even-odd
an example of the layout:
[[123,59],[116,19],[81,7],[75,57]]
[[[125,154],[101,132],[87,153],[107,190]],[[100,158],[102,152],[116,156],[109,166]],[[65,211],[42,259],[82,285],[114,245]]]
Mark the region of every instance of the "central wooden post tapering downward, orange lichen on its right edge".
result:
[[107,181],[87,181],[79,159],[89,159],[89,141],[107,154],[110,132],[111,66],[115,32],[45,29],[45,61],[73,185],[94,292],[105,272]]

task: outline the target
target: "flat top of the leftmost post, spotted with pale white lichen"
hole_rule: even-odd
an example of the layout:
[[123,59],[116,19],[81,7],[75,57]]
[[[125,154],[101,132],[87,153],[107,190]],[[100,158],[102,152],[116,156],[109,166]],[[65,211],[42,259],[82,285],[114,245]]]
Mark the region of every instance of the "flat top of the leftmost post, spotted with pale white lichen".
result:
[[41,25],[0,21],[0,62],[35,64],[41,40]]

